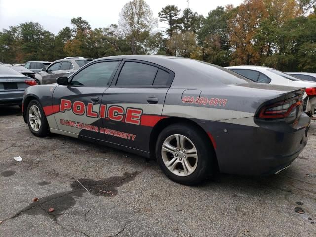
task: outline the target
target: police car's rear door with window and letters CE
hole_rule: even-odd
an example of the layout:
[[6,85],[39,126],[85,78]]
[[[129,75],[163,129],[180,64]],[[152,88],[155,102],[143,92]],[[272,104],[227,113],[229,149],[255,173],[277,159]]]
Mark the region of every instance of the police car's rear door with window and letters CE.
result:
[[123,60],[103,94],[103,132],[107,141],[149,151],[153,126],[161,119],[174,73],[156,64]]

